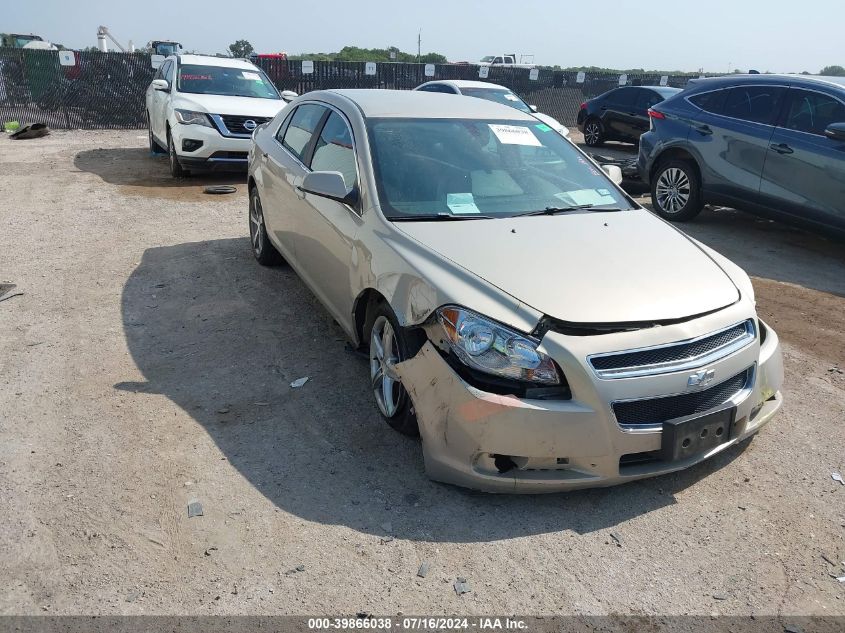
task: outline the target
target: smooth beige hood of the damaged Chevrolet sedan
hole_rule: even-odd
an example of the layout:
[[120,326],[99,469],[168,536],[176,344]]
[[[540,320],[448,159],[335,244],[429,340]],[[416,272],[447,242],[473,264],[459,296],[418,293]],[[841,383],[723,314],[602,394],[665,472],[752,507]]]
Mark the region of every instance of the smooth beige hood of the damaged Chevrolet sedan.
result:
[[667,321],[739,299],[713,259],[644,209],[394,226],[561,321]]

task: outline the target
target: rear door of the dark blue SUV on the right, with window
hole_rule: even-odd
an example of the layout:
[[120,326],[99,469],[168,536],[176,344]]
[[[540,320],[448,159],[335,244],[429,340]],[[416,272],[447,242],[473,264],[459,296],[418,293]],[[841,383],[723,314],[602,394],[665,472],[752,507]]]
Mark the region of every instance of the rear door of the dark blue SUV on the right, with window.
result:
[[701,157],[703,185],[715,201],[758,202],[763,165],[785,94],[782,86],[758,84],[689,99],[702,111],[690,121],[688,140]]

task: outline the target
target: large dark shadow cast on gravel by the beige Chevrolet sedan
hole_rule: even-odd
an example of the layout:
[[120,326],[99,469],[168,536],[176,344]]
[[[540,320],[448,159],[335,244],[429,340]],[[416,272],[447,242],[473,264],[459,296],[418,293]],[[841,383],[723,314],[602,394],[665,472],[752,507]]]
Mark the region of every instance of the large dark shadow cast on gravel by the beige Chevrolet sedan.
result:
[[747,446],[622,487],[476,493],[425,476],[419,441],[379,417],[367,361],[290,268],[254,261],[247,238],[148,249],[122,313],[145,380],[117,389],[172,400],[277,507],[363,533],[385,523],[397,538],[433,542],[594,532],[675,503]]

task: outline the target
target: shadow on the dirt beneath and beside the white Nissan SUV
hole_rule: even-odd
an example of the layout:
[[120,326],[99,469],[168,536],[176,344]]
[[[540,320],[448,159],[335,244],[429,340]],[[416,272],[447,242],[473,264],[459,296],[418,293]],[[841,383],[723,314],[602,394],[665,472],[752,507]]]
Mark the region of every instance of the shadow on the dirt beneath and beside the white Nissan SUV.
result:
[[185,178],[174,178],[166,154],[151,154],[142,147],[85,150],[76,154],[73,164],[80,171],[120,186],[129,195],[182,199],[202,193],[209,185],[246,185],[246,170],[195,171]]

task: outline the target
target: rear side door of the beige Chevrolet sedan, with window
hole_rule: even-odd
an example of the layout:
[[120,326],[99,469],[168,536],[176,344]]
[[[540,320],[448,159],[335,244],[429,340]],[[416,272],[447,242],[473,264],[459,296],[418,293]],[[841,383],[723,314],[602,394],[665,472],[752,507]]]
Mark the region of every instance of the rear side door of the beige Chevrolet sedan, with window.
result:
[[307,206],[296,187],[307,172],[305,163],[314,131],[325,113],[326,109],[315,103],[298,106],[279,128],[266,156],[261,157],[266,191],[261,200],[264,222],[291,265],[295,265],[292,256],[296,254],[297,220]]

